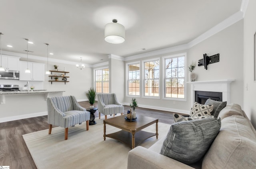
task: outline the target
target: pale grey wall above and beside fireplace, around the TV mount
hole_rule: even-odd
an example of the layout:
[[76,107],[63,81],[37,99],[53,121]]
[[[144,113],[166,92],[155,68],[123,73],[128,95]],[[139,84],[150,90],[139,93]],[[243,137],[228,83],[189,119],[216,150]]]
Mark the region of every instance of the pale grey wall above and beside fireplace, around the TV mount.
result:
[[235,79],[230,84],[230,102],[243,107],[243,20],[190,48],[188,65],[202,59],[204,53],[209,56],[220,53],[220,61],[208,65],[207,70],[204,66],[196,67],[193,71],[197,74],[196,81]]

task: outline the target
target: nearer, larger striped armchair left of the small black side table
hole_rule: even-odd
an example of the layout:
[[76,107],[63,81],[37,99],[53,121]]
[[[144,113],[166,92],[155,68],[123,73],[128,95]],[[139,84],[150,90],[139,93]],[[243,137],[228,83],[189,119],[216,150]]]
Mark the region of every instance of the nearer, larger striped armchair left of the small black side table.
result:
[[65,128],[65,140],[68,139],[68,128],[86,121],[89,130],[90,112],[82,108],[74,96],[56,96],[47,98],[49,133],[52,125]]

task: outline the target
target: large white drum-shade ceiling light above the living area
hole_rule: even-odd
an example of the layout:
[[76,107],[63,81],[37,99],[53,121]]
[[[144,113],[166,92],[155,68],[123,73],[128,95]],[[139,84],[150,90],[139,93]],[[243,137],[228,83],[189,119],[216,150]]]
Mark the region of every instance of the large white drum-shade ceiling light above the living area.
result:
[[112,22],[105,25],[105,41],[114,44],[123,43],[125,40],[124,26],[118,24],[116,19]]

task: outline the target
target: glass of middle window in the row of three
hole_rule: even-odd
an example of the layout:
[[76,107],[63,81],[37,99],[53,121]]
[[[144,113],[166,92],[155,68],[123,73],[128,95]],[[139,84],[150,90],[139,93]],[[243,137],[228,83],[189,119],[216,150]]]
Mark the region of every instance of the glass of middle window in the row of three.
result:
[[144,96],[159,97],[159,59],[144,62]]

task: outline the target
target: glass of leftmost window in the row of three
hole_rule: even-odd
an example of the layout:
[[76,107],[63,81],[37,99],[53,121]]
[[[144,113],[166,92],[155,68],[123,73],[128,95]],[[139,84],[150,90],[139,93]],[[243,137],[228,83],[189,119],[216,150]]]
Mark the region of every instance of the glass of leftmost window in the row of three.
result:
[[128,65],[128,95],[140,96],[140,63]]

